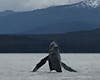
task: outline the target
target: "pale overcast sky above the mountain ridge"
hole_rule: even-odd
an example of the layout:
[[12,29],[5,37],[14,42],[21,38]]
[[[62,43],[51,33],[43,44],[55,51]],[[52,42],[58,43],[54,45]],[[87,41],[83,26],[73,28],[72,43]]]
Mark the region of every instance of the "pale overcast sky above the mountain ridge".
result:
[[0,0],[1,10],[27,11],[37,8],[45,8],[54,5],[63,5],[81,0]]

